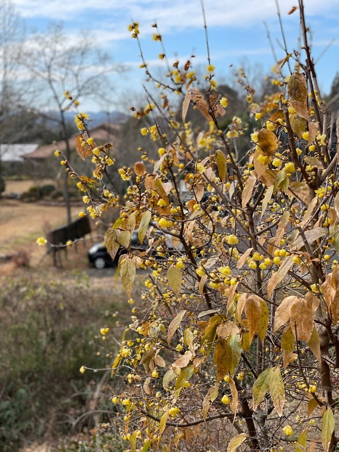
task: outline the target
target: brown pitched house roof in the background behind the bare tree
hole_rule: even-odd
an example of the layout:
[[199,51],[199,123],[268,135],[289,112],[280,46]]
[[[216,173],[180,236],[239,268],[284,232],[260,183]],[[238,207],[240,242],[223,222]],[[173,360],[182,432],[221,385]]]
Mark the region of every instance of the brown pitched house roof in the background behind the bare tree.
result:
[[[94,141],[98,143],[107,143],[112,138],[117,138],[120,132],[121,126],[118,124],[102,123],[92,129],[89,129],[88,133]],[[71,149],[75,149],[75,140],[79,133],[73,134],[69,139],[69,146]],[[53,144],[41,146],[40,148],[33,150],[25,155],[25,158],[29,159],[46,159],[53,152],[59,150],[60,152],[66,151],[66,144],[64,141],[54,142]]]

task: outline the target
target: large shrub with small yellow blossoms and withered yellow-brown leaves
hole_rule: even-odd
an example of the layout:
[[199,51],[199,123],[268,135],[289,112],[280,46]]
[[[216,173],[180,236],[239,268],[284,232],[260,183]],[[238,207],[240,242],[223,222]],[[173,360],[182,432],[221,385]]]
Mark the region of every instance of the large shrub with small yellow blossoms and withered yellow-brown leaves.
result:
[[[166,82],[157,80],[137,23],[129,30],[160,101],[148,93],[149,104],[132,110],[141,122],[147,118],[140,138],[157,146],[158,160],[140,148],[134,168],[118,169],[130,183],[119,202],[108,184],[110,146],[95,146],[84,115],[77,116],[78,151],[92,158],[93,179],[59,153],[86,192],[90,216],[121,209],[105,244],[112,258],[126,250],[119,268],[131,304],[137,269],[149,271],[110,368],[126,381],[112,403],[124,408],[128,450],[217,450],[225,443],[229,451],[283,450],[291,441],[296,450],[313,450],[319,429],[323,450],[335,448],[337,151],[301,0],[299,12],[305,60],[286,50],[272,80],[277,91],[263,102],[246,86],[254,126],[246,159],[237,160],[237,141],[248,125],[234,118],[220,128],[229,102],[209,56],[204,90],[195,86],[190,61],[174,63]],[[153,39],[166,60],[161,35]],[[291,62],[294,69],[286,70]],[[180,115],[172,94],[183,96]],[[204,130],[186,122],[191,109],[205,118]],[[95,181],[98,198],[88,188]],[[138,254],[131,248],[135,229],[149,244]]]

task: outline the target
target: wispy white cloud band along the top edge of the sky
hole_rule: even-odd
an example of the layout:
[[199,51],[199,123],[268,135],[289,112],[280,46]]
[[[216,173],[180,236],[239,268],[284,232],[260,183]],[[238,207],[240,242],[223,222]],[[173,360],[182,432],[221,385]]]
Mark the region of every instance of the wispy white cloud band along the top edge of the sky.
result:
[[[202,14],[199,0],[14,0],[20,14],[26,18],[45,18],[49,20],[72,21],[75,18],[85,18],[83,28],[92,28],[95,23],[95,13],[106,15],[116,30],[113,39],[121,39],[127,24],[137,20],[149,25],[156,20],[162,33],[175,32],[188,27],[201,28]],[[295,4],[295,0],[280,0],[283,18]],[[213,26],[244,27],[254,25],[263,20],[276,17],[273,0],[205,0],[207,24]],[[305,0],[306,16],[339,14],[339,0]],[[297,12],[294,13],[297,16]],[[101,18],[102,19],[102,18]]]

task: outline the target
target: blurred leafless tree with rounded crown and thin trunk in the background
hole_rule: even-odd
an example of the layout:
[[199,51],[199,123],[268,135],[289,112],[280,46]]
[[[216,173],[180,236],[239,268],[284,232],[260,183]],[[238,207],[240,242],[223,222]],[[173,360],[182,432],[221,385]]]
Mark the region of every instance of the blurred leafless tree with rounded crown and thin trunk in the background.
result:
[[[73,39],[65,34],[61,24],[51,24],[45,34],[33,34],[26,41],[24,58],[20,62],[27,75],[32,77],[35,107],[41,115],[55,121],[69,160],[71,149],[65,112],[75,107],[81,98],[100,99],[101,103],[110,101],[112,90],[107,89],[108,74],[122,68],[110,63],[108,56],[100,51],[87,32]],[[51,111],[57,111],[57,115]],[[67,179],[64,196],[70,222]]]

